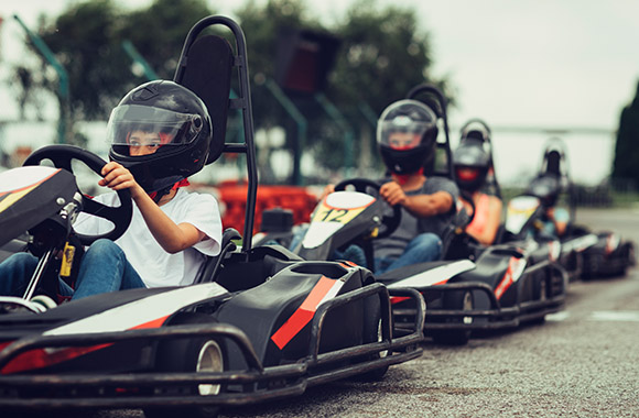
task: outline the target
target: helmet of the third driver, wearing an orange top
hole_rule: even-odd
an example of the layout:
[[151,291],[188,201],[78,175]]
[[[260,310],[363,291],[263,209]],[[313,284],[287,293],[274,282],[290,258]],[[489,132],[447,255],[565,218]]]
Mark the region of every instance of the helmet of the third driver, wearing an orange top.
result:
[[453,166],[457,186],[467,191],[476,191],[484,186],[490,169],[490,155],[485,150],[485,142],[475,135],[463,138],[453,153]]

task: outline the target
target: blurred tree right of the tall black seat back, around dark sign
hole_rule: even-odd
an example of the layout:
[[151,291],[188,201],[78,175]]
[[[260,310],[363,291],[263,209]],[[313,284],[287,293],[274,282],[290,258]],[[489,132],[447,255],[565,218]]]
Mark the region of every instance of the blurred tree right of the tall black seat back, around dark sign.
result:
[[[431,81],[446,89],[446,80],[433,79],[429,36],[418,31],[413,10],[390,7],[380,9],[375,2],[359,0],[342,24],[327,31],[317,20],[306,18],[301,1],[270,0],[258,7],[250,1],[237,12],[248,43],[249,67],[258,80],[275,76],[277,36],[283,28],[332,32],[340,41],[334,70],[329,74],[326,97],[344,113],[354,131],[375,131],[370,113],[377,118],[392,101],[403,98],[414,86]],[[291,123],[270,95],[253,84],[256,125]],[[344,165],[344,131],[329,119],[313,97],[288,92],[308,119],[305,152],[332,169]],[[368,111],[369,114],[364,114]],[[368,117],[368,118],[367,118]],[[289,122],[283,122],[289,120]],[[288,129],[290,132],[291,130]],[[289,146],[293,144],[289,143]],[[366,143],[362,146],[367,146]],[[371,146],[370,139],[368,146]],[[361,155],[360,142],[355,155]]]

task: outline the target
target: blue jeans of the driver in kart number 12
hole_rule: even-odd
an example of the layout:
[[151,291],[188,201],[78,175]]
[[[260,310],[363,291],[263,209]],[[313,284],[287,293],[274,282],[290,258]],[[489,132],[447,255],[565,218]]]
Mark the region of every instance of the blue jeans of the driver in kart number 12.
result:
[[422,233],[408,243],[399,257],[375,257],[375,273],[381,274],[407,265],[435,261],[441,255],[442,240],[440,237],[431,232]]

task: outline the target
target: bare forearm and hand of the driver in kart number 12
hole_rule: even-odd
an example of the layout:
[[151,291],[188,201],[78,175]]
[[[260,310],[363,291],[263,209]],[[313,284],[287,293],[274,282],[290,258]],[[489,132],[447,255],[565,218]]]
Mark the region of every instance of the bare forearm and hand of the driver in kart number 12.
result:
[[379,194],[389,205],[401,205],[418,218],[446,213],[453,208],[454,204],[453,196],[448,191],[407,196],[396,182],[383,184],[379,189]]

